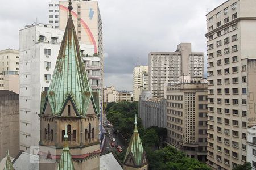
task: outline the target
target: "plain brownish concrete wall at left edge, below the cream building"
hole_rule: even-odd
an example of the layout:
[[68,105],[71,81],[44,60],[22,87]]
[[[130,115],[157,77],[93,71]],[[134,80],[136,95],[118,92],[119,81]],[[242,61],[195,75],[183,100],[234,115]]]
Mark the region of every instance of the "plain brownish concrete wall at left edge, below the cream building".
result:
[[19,94],[0,90],[0,160],[19,153]]

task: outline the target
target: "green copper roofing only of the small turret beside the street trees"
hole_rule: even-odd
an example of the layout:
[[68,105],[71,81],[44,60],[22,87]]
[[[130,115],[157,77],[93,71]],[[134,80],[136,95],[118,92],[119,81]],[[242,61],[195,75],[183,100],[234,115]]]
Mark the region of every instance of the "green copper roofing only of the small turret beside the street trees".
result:
[[131,153],[134,157],[135,164],[141,165],[144,148],[141,143],[141,138],[139,138],[139,132],[137,129],[137,116],[135,116],[134,124],[135,124],[135,128],[134,128],[133,136],[131,137],[129,147],[127,148],[125,159],[129,155],[129,153]]

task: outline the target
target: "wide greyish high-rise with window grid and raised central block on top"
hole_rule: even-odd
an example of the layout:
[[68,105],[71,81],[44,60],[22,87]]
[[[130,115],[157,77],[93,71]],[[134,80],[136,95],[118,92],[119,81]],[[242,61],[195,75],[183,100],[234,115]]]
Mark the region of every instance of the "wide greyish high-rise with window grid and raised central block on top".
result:
[[181,76],[202,78],[204,54],[191,52],[191,43],[177,45],[176,52],[150,52],[148,54],[148,86],[153,97],[164,97],[164,86],[177,82]]

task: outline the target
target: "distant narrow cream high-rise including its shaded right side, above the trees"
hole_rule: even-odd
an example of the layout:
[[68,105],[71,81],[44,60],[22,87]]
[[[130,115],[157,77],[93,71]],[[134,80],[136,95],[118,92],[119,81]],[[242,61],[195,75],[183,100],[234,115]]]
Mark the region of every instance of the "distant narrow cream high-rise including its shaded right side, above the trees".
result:
[[148,66],[136,66],[133,69],[133,101],[139,101],[142,88],[148,86]]

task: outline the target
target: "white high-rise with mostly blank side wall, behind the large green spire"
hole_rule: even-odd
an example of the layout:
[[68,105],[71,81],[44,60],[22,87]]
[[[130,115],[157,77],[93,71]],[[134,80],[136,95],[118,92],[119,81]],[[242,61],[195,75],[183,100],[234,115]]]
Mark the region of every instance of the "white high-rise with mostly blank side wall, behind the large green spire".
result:
[[[49,24],[31,25],[19,31],[20,150],[28,152],[31,146],[38,146],[40,95],[49,88],[63,34],[64,31]],[[93,57],[93,45],[81,42],[80,48]],[[98,76],[92,75],[91,69],[96,66],[88,59],[92,57],[83,59],[88,76],[95,79]]]

